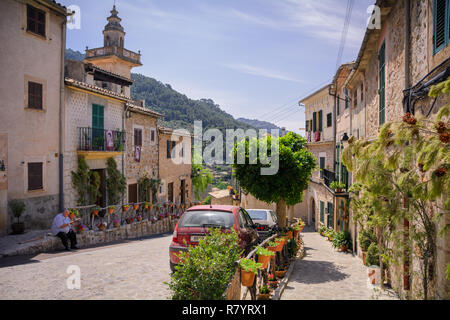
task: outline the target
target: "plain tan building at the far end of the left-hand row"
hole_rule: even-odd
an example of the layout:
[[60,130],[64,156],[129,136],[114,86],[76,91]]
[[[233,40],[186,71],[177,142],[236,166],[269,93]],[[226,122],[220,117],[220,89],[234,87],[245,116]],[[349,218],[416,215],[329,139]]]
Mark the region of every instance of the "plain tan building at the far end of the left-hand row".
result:
[[192,202],[192,135],[187,130],[159,127],[160,202]]

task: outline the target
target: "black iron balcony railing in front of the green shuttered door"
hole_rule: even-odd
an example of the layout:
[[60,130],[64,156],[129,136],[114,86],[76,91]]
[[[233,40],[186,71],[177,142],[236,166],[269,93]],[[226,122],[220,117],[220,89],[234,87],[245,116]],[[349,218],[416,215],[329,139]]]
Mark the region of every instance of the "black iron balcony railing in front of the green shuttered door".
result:
[[79,151],[124,151],[125,132],[95,128],[78,128]]

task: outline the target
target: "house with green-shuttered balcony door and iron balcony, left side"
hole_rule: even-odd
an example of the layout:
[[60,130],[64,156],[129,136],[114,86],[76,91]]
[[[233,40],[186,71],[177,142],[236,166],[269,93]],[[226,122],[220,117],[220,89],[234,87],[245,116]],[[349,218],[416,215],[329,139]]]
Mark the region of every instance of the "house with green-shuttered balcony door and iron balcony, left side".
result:
[[[105,207],[106,160],[113,157],[123,172],[126,150],[125,106],[129,97],[102,84],[129,86],[122,76],[80,61],[66,61],[66,101],[64,130],[64,196],[67,208],[77,206],[78,195],[72,186],[72,171],[83,156],[91,171],[100,176],[101,196],[96,204]],[[117,87],[116,87],[117,88]]]

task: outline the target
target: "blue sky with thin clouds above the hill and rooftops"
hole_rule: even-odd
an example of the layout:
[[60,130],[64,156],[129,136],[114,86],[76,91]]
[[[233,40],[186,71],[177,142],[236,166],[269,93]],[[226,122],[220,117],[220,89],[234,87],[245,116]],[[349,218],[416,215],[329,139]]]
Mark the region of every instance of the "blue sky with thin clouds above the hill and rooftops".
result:
[[[67,47],[103,46],[114,0],[60,0],[81,9]],[[342,63],[356,58],[367,8],[356,0]],[[347,0],[116,0],[133,69],[193,99],[210,98],[235,118],[299,132],[298,101],[333,78]]]

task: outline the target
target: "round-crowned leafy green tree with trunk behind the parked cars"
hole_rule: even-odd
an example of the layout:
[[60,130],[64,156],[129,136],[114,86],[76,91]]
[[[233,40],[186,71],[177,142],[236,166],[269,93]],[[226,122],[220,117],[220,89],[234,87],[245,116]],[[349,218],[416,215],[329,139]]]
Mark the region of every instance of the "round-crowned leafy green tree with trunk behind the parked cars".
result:
[[[278,142],[277,154],[272,154],[272,144]],[[274,175],[262,175],[262,168],[269,168],[265,161],[265,150],[259,152],[260,145],[267,145],[267,156],[279,158],[279,169]],[[317,167],[314,156],[306,148],[306,140],[289,132],[281,138],[267,136],[260,139],[243,140],[235,144],[234,168],[241,188],[266,203],[277,204],[278,224],[286,226],[286,205],[293,206],[303,201],[303,192],[308,188],[312,172]],[[244,149],[245,147],[245,149]],[[252,150],[258,150],[256,164],[250,164]],[[245,150],[245,164],[238,163],[239,150]],[[263,160],[263,161],[261,161]]]

